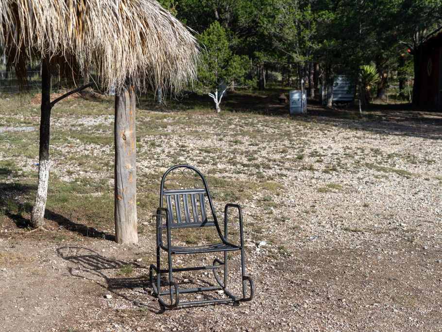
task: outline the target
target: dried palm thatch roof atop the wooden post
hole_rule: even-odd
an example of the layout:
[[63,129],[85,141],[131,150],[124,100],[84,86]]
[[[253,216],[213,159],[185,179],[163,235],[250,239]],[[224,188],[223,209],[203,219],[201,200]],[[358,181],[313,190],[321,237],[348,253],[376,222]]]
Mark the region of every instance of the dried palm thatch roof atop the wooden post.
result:
[[195,38],[155,0],[1,0],[0,50],[18,75],[48,58],[71,71],[95,68],[106,87],[127,78],[180,87],[198,58]]

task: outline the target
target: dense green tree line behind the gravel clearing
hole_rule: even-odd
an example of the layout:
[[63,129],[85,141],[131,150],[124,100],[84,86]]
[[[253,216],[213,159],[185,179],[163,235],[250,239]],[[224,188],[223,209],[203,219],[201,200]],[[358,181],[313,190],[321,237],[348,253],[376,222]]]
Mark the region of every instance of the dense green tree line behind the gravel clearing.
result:
[[[222,46],[229,55],[218,62],[218,70],[227,70],[238,61],[249,67],[236,73],[230,70],[230,76],[221,74],[218,84],[235,86],[233,81],[246,82],[238,76],[248,75],[249,84],[255,81],[257,88],[265,89],[272,70],[280,72],[289,86],[304,89],[301,81],[305,82],[310,96],[319,83],[332,82],[338,74],[356,81],[361,66],[368,64],[379,73],[377,97],[384,97],[391,72],[397,74],[401,93],[405,93],[407,76],[414,76],[413,91],[417,91],[422,45],[442,28],[441,0],[162,2],[201,36],[205,62],[213,62],[208,54]],[[222,40],[210,38],[211,34]],[[240,57],[236,62],[235,56]],[[229,77],[232,82],[226,82]],[[297,82],[291,82],[292,77]],[[212,84],[200,91],[214,88]],[[413,93],[414,103],[417,98]]]

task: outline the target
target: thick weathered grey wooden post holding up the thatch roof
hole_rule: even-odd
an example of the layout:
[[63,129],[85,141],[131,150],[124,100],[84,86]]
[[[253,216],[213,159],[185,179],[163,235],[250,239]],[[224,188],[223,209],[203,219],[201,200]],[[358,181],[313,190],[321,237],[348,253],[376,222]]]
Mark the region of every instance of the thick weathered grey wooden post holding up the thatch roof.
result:
[[115,96],[115,241],[138,243],[136,225],[135,86]]

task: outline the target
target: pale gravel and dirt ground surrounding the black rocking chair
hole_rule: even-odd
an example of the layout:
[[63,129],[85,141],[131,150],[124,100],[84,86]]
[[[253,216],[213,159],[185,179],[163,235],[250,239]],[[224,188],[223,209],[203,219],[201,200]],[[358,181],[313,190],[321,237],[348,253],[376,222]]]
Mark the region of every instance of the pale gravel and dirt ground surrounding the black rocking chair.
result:
[[[178,160],[204,174],[216,169],[217,176],[259,184],[264,173],[283,185],[239,202],[255,298],[162,309],[146,280],[154,257],[150,226],[138,245],[124,246],[90,238],[40,242],[38,232],[14,233],[4,224],[0,331],[442,331],[439,115],[421,113],[420,122],[407,115],[377,122],[232,115],[222,127],[209,125],[216,115],[205,117],[158,129],[165,135],[139,135],[138,174],[164,172],[170,153],[185,144],[187,155]],[[93,127],[108,120],[75,121]],[[205,135],[167,135],[194,131]],[[238,132],[250,135],[233,143]],[[254,137],[274,136],[287,140],[254,144]],[[143,158],[152,141],[156,157]],[[207,160],[201,147],[224,155]],[[97,146],[64,149],[88,154]],[[248,166],[251,156],[269,165],[256,170]],[[63,165],[55,158],[51,172],[69,181],[74,175]],[[225,203],[217,201],[217,210]],[[134,272],[121,274],[128,263]]]

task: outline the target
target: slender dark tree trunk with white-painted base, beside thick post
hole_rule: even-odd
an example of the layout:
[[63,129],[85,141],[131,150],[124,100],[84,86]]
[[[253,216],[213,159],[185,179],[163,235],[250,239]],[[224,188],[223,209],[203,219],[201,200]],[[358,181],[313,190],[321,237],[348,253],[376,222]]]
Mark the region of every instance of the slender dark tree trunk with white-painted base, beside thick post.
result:
[[40,149],[38,164],[37,195],[31,213],[33,227],[44,227],[46,199],[48,197],[49,180],[49,134],[51,119],[51,72],[49,62],[41,61],[41,117],[40,117]]

